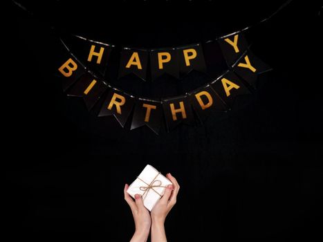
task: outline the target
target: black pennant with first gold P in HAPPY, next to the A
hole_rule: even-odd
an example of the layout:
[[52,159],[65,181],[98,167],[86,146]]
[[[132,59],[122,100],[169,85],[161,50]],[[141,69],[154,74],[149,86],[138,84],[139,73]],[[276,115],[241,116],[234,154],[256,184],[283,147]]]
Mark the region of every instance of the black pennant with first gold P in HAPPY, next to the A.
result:
[[151,79],[167,73],[179,78],[177,51],[175,48],[150,51]]

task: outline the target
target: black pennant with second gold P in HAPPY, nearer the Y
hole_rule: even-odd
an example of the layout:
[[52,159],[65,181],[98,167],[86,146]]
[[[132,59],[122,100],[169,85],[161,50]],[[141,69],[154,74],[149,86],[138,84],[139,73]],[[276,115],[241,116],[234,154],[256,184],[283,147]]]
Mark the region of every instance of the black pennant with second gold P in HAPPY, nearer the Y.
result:
[[194,44],[192,46],[183,46],[176,48],[180,76],[183,77],[191,71],[206,72],[205,59],[203,55],[203,48],[201,44]]

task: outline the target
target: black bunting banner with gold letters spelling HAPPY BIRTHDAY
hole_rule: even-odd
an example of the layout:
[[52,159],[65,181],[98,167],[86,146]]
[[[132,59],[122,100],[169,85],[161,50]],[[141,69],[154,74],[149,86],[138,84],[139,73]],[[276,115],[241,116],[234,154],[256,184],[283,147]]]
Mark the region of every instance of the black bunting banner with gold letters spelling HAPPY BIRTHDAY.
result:
[[[75,35],[61,41],[64,54],[56,74],[62,79],[62,88],[68,96],[82,97],[90,111],[106,93],[98,117],[114,116],[122,127],[128,122],[130,130],[148,127],[156,134],[160,133],[163,120],[169,132],[179,124],[195,125],[204,122],[212,112],[232,109],[237,97],[257,89],[258,76],[270,71],[252,53],[242,32],[202,44],[158,49],[116,48]],[[117,56],[119,53],[119,69],[115,75],[118,80],[132,75],[147,83],[149,89],[149,83],[160,77],[184,80],[195,71],[205,74],[209,81],[184,95],[158,99],[133,95],[113,86],[105,75],[111,61],[116,61],[110,57],[113,51]],[[181,89],[180,82],[176,86]]]

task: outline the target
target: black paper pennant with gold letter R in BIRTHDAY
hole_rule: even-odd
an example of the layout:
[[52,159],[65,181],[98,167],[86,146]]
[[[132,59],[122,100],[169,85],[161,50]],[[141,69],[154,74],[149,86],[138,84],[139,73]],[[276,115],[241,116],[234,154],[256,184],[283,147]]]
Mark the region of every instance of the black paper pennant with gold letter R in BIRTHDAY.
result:
[[133,96],[122,93],[117,89],[111,89],[98,116],[114,115],[120,125],[124,127],[132,111],[133,104],[135,104],[135,98]]

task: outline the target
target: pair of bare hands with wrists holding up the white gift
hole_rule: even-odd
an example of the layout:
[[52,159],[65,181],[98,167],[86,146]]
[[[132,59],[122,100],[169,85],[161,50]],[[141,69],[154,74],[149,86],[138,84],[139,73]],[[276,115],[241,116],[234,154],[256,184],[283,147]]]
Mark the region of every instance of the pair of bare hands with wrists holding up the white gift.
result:
[[167,241],[165,234],[165,219],[172,207],[176,204],[176,197],[179,190],[179,185],[176,178],[171,174],[167,174],[166,177],[173,183],[168,185],[165,189],[165,194],[156,203],[154,208],[149,211],[144,206],[142,198],[139,194],[135,195],[135,201],[127,193],[129,185],[124,186],[124,200],[127,201],[135,221],[136,231],[133,234],[131,242],[147,241],[149,231],[151,229],[151,242]]

